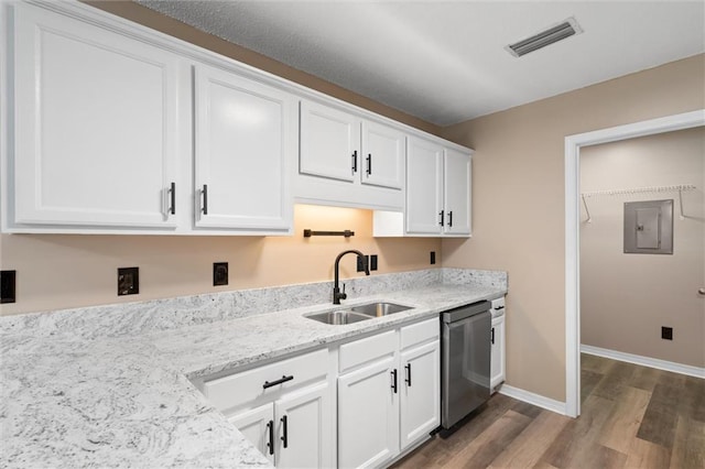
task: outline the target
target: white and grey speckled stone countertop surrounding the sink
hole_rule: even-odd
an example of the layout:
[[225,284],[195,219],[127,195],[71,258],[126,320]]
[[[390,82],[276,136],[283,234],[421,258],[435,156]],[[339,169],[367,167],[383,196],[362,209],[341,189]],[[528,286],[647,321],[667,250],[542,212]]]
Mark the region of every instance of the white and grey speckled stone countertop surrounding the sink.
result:
[[[78,330],[67,313],[66,327],[52,314],[0,318],[0,467],[271,467],[189,380],[507,293],[505,273],[438,272],[425,286],[367,296],[348,290],[348,306],[384,299],[413,309],[345,326],[304,317],[332,304],[296,302],[273,313],[130,334],[113,334],[105,319],[104,335],[87,319]],[[329,294],[330,282],[324,284]]]

